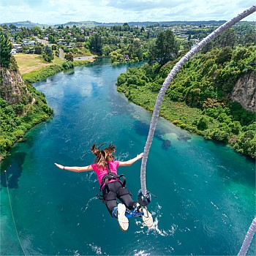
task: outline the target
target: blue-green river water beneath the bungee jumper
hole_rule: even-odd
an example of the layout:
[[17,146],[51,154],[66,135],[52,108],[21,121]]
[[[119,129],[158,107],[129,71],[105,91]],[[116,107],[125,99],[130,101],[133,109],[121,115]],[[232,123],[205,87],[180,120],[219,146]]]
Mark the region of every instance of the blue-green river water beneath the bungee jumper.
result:
[[[127,66],[97,61],[36,83],[55,114],[4,160],[20,243],[26,255],[236,255],[255,217],[255,162],[159,118],[148,156],[148,209],[154,228],[129,219],[122,232],[96,197],[95,173],[59,170],[89,165],[92,143],[112,141],[116,157],[143,151],[151,114],[116,91]],[[169,143],[170,142],[170,143]],[[140,161],[119,167],[136,198]],[[248,255],[255,255],[255,238]],[[1,172],[1,252],[23,255]]]

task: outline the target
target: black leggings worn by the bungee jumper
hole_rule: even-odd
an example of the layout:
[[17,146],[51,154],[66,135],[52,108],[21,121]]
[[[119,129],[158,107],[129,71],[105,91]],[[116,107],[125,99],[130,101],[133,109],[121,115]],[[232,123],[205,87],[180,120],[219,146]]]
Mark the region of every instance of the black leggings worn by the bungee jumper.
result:
[[113,209],[117,206],[117,200],[121,200],[121,203],[129,208],[129,210],[133,210],[137,202],[132,200],[131,195],[126,187],[123,187],[121,182],[114,181],[103,187],[102,189],[103,198],[105,200],[105,205],[108,208],[110,215],[112,216]]

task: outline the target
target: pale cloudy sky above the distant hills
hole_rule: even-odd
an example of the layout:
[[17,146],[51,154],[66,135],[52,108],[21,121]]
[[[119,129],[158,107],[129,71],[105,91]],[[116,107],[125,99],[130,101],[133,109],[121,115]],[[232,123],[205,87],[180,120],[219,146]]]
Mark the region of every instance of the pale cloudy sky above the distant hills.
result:
[[[230,20],[255,0],[0,0],[0,23]],[[244,20],[256,20],[256,14]]]

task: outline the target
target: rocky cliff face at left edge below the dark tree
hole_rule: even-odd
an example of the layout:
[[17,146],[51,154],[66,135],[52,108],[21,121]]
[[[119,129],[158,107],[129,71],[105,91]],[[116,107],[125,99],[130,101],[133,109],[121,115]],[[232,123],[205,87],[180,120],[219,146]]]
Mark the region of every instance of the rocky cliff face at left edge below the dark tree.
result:
[[26,84],[18,71],[1,68],[0,91],[1,98],[7,101],[9,105],[18,104],[19,102],[31,101]]

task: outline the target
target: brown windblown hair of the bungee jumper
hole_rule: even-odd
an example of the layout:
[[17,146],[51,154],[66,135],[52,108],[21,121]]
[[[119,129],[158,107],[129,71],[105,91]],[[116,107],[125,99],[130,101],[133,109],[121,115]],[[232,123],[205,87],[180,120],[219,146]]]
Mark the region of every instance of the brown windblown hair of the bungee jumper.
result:
[[108,161],[113,161],[115,157],[113,156],[113,153],[116,152],[116,146],[112,145],[111,143],[107,148],[104,148],[100,150],[99,148],[103,146],[105,143],[102,143],[99,145],[99,147],[94,145],[91,146],[91,152],[96,155],[94,162],[97,164],[97,167],[99,169],[104,169],[105,165],[107,165]]

